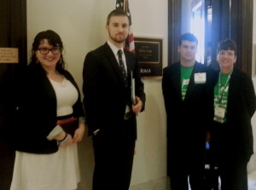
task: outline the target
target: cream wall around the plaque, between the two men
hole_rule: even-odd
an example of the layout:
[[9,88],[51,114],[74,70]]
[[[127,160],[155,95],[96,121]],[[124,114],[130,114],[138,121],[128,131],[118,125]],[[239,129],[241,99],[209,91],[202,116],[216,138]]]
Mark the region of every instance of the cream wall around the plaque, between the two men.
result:
[[[167,66],[167,0],[130,0],[132,31],[138,37],[163,38]],[[161,80],[144,79],[146,110],[138,117],[137,154],[131,185],[166,176],[166,112]]]

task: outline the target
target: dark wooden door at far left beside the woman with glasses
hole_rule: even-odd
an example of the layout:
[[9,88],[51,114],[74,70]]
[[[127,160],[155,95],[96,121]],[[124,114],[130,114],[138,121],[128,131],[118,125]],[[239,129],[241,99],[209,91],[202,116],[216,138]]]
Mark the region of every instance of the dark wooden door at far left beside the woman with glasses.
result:
[[26,65],[26,0],[0,0],[0,56],[18,49],[18,63],[0,58],[0,190],[9,189],[15,152],[11,148],[11,121],[15,109],[15,68]]

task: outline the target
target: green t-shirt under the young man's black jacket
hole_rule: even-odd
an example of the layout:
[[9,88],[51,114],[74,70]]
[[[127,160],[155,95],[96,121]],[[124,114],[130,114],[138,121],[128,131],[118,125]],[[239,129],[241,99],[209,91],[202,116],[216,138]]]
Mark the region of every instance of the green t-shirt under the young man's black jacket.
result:
[[185,99],[187,89],[189,86],[189,78],[193,71],[194,66],[181,66],[181,90],[182,90],[182,98]]

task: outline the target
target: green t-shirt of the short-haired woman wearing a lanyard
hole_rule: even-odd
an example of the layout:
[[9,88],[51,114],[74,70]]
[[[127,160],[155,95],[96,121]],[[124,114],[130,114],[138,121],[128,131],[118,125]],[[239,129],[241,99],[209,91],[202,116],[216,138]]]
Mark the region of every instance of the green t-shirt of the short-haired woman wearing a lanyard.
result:
[[220,73],[218,83],[214,87],[214,107],[222,107],[225,109],[224,118],[217,117],[217,120],[221,123],[226,122],[227,103],[230,87],[230,75],[231,73]]

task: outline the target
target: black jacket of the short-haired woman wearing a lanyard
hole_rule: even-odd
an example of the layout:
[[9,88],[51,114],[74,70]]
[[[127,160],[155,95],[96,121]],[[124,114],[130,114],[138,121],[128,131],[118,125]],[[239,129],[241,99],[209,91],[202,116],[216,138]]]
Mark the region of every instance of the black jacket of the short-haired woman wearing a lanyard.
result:
[[212,126],[212,146],[215,148],[218,143],[220,158],[241,163],[247,162],[253,154],[251,118],[255,103],[252,79],[234,69],[230,78],[226,124],[213,122]]

